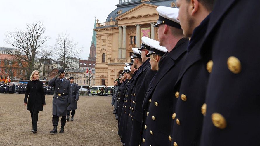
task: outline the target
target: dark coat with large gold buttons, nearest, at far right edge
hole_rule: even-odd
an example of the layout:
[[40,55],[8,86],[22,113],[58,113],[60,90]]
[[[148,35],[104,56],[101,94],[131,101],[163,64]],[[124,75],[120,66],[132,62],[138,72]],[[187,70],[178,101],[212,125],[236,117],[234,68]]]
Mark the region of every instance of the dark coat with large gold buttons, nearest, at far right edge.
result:
[[260,145],[259,4],[219,0],[211,13],[203,48],[213,67],[201,146]]

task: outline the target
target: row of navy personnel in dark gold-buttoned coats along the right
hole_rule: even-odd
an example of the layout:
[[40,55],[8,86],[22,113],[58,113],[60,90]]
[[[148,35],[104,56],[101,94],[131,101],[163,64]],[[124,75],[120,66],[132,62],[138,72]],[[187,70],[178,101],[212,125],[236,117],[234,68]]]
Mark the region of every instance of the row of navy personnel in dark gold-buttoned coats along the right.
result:
[[157,7],[159,42],[143,37],[115,82],[123,145],[260,145],[259,4]]

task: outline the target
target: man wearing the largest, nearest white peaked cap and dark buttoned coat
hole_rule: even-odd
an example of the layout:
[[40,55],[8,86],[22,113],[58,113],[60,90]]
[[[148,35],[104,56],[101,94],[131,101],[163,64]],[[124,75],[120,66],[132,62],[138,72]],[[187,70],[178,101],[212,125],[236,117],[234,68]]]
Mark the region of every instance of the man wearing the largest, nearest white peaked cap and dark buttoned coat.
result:
[[178,9],[157,8],[160,46],[165,46],[167,52],[161,57],[159,70],[151,80],[143,102],[144,119],[141,145],[169,145],[171,138],[171,117],[175,105],[173,85],[178,79],[182,63],[186,56],[189,43],[184,38],[177,20]]

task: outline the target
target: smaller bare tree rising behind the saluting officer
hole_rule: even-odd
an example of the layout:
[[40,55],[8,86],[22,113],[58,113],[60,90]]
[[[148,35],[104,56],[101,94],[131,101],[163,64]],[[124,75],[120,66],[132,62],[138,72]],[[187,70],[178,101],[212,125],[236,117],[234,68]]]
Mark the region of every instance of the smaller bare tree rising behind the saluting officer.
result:
[[67,73],[69,69],[75,69],[75,66],[79,65],[77,58],[79,57],[81,49],[77,48],[77,43],[74,43],[73,39],[70,39],[69,34],[66,32],[65,34],[58,35],[53,49],[55,50],[55,56],[53,57],[56,58],[60,67],[65,70],[65,73]]

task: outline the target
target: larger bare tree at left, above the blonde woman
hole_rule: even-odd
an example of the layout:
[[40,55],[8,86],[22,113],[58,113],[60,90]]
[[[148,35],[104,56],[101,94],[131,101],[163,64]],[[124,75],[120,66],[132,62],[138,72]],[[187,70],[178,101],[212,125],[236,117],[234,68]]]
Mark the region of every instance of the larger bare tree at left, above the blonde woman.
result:
[[[44,59],[48,58],[51,51],[47,51],[43,44],[49,39],[47,36],[43,36],[46,31],[42,22],[35,22],[33,24],[27,24],[25,30],[16,30],[15,32],[8,32],[6,42],[11,44],[20,53],[13,53],[8,51],[13,57],[22,63],[23,68],[29,73],[25,75],[27,79],[30,79],[30,73],[33,70],[38,70],[41,67],[41,63]],[[38,57],[42,59],[39,60]]]

